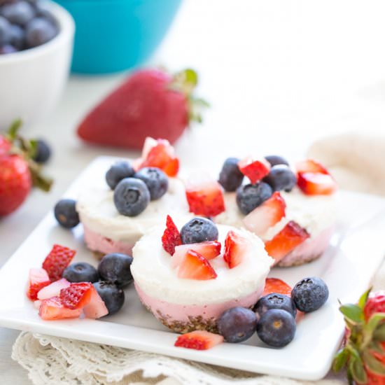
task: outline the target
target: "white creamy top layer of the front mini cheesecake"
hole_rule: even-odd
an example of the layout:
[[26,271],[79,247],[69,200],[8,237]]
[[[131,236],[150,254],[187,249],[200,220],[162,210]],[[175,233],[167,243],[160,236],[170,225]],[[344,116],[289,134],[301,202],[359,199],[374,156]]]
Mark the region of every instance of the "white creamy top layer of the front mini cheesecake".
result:
[[[183,223],[178,223],[179,228]],[[218,276],[199,281],[178,277],[178,267],[172,267],[172,256],[162,247],[165,227],[144,235],[132,250],[131,272],[134,281],[147,295],[174,304],[209,304],[249,295],[265,286],[265,279],[274,260],[267,255],[262,241],[251,232],[218,225],[222,253],[210,260]],[[229,269],[223,260],[225,237],[229,230],[248,239],[244,260]]]

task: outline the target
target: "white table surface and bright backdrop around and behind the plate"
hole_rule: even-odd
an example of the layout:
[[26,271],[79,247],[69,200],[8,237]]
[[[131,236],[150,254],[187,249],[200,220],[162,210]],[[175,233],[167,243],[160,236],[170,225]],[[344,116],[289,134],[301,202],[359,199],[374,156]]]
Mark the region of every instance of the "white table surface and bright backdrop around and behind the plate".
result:
[[[185,0],[153,58],[170,69],[200,72],[212,104],[204,125],[176,144],[183,165],[260,152],[300,157],[318,137],[347,130],[379,132],[385,124],[383,1]],[[124,74],[73,76],[57,109],[25,134],[47,139],[54,154],[52,192],[34,191],[0,220],[0,265],[52,209],[73,178],[97,155],[134,155],[92,148],[74,134],[85,111]],[[18,332],[0,328],[2,384],[29,384],[10,359]]]

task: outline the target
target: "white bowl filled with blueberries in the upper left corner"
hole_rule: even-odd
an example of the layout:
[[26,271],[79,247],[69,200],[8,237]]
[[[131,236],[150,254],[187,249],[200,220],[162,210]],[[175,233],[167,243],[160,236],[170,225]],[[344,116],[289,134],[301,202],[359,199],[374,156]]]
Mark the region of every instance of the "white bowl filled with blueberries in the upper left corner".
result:
[[0,129],[16,118],[33,125],[57,104],[71,64],[75,24],[61,6],[50,3],[59,33],[48,43],[0,55]]

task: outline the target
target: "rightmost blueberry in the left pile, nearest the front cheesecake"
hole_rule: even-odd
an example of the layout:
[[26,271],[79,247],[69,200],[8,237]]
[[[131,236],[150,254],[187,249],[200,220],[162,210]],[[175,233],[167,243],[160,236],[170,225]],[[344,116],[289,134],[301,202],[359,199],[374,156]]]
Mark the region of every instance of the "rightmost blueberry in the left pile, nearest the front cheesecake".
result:
[[104,281],[115,283],[123,288],[132,282],[131,264],[132,257],[130,255],[107,254],[99,262],[97,271]]

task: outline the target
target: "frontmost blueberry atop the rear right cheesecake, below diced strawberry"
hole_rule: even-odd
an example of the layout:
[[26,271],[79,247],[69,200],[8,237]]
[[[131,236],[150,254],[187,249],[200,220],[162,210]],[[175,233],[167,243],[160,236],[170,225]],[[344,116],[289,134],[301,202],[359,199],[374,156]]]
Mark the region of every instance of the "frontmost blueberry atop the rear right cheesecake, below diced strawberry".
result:
[[255,185],[248,184],[237,188],[237,205],[245,215],[253,211],[255,207],[268,200],[272,196],[272,188],[264,182]]

